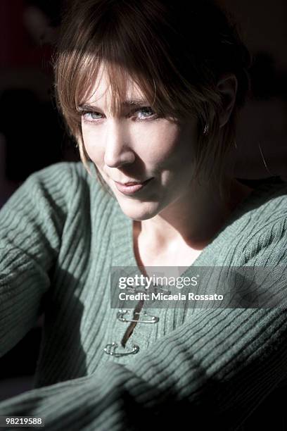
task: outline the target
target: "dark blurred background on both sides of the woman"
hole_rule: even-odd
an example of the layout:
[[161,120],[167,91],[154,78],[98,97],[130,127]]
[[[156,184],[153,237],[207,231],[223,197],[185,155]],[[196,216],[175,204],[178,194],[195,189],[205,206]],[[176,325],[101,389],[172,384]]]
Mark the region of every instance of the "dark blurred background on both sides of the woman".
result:
[[[0,1],[0,208],[34,171],[77,161],[53,97],[54,44],[70,0]],[[252,92],[238,123],[237,177],[287,181],[287,1],[219,0],[253,54]],[[0,401],[32,387],[43,316],[0,358]],[[1,349],[0,349],[1,350]]]

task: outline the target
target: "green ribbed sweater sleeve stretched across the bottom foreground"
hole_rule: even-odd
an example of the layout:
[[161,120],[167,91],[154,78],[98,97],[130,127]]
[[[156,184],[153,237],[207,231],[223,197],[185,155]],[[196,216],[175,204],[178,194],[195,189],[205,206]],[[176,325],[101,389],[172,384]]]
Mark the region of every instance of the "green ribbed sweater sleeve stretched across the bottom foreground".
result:
[[[264,254],[286,267],[286,235],[278,232]],[[0,416],[42,417],[45,430],[169,430],[179,422],[236,430],[286,377],[286,364],[286,301],[201,309],[128,365],[108,362],[14,396],[0,403]]]

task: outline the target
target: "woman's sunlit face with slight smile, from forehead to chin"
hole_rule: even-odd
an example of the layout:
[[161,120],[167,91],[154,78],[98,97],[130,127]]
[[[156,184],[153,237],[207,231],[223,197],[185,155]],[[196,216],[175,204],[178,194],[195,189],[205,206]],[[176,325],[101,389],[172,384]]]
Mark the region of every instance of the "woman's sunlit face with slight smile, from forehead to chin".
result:
[[[120,115],[112,116],[106,74],[98,76],[91,97],[80,107],[82,135],[87,154],[122,211],[133,220],[147,220],[174,201],[189,199],[196,119],[176,123],[171,118],[157,118],[133,82],[127,84],[127,103]],[[146,180],[134,187],[117,184]]]

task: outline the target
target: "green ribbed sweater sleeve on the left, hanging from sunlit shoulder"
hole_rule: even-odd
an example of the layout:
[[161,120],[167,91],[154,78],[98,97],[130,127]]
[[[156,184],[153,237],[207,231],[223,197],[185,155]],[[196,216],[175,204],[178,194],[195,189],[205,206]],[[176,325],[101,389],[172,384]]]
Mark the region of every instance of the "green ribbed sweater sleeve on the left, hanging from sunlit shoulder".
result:
[[67,165],[58,163],[30,175],[1,208],[0,356],[43,311],[64,223],[60,189],[70,182]]

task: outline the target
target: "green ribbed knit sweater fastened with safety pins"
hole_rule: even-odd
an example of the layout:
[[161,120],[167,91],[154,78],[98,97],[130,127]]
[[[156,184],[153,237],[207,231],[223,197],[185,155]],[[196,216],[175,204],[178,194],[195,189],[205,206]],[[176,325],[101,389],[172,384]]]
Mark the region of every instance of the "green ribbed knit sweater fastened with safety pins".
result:
[[[190,269],[286,268],[286,213],[287,185],[260,185]],[[139,351],[112,356],[129,323],[110,308],[110,266],[137,266],[132,220],[82,163],[30,175],[1,209],[0,356],[45,318],[34,389],[0,416],[42,417],[45,430],[245,430],[287,377],[285,302],[152,309],[158,322],[119,349]]]

